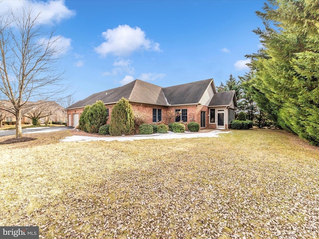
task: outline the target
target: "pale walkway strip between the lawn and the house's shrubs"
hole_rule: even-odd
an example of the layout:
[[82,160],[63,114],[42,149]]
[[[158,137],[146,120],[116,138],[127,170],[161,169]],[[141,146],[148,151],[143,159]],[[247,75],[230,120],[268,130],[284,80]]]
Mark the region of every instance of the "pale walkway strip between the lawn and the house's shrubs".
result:
[[132,136],[105,136],[105,137],[95,137],[95,136],[80,136],[73,135],[61,139],[61,142],[88,142],[88,141],[134,141],[143,139],[173,139],[173,138],[199,138],[199,137],[218,137],[220,133],[230,133],[231,131],[223,130],[209,130],[201,132],[187,132],[184,133],[155,133],[155,134],[138,134]]

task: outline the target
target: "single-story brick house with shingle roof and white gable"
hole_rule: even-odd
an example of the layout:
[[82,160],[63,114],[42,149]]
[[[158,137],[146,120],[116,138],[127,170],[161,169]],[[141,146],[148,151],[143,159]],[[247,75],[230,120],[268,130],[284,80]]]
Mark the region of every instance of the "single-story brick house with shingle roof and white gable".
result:
[[95,93],[66,108],[68,125],[77,126],[87,105],[101,100],[111,118],[114,105],[124,97],[133,112],[148,116],[147,123],[198,122],[201,128],[229,128],[237,108],[235,91],[216,92],[213,79],[171,87],[135,80],[122,87]]

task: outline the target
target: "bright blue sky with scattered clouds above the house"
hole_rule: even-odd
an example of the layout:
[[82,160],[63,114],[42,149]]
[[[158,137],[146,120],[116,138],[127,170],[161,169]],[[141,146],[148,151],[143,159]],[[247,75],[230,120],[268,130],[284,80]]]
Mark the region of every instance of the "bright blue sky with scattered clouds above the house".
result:
[[[0,1],[0,14],[29,4],[55,28],[59,65],[74,102],[135,79],[168,87],[249,72],[261,47],[253,29],[266,0]],[[45,37],[45,36],[43,36]]]

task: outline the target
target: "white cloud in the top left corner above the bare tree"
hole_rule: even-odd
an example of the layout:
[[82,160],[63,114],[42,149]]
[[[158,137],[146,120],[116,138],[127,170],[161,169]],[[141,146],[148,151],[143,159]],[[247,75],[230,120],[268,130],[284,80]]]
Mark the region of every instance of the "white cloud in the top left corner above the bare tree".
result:
[[75,15],[75,11],[68,9],[64,0],[4,0],[0,1],[0,15],[11,9],[16,16],[19,16],[27,7],[32,9],[34,16],[39,14],[37,20],[40,24],[60,22]]

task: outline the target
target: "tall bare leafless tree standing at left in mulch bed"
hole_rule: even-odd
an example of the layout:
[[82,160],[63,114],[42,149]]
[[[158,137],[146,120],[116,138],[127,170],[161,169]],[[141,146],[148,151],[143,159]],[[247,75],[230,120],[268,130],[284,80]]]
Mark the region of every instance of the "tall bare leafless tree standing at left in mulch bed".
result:
[[66,89],[56,65],[59,37],[46,34],[38,20],[30,6],[0,16],[0,92],[13,106],[16,137],[22,137],[22,110],[29,101],[53,100]]

